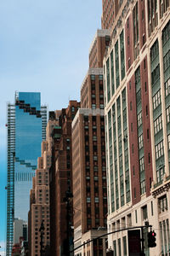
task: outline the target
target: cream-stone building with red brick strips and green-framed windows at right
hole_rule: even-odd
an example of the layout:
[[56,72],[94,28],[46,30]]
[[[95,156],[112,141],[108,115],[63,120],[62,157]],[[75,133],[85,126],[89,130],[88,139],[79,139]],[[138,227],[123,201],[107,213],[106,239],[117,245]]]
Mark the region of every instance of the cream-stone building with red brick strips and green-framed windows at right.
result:
[[[144,229],[145,255],[170,255],[170,2],[114,4],[104,58],[108,231],[152,224],[157,245],[148,247]],[[108,242],[128,255],[127,230]]]

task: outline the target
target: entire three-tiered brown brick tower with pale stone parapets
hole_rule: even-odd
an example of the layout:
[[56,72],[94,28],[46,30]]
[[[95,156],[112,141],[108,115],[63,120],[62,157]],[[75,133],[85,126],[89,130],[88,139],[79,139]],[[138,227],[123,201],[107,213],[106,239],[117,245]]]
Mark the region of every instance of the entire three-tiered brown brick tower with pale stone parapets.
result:
[[[81,108],[72,122],[72,176],[75,255],[105,255],[107,192],[103,58],[110,31],[97,30],[89,69],[81,87]],[[102,227],[102,228],[101,228]],[[77,249],[77,247],[79,247]]]

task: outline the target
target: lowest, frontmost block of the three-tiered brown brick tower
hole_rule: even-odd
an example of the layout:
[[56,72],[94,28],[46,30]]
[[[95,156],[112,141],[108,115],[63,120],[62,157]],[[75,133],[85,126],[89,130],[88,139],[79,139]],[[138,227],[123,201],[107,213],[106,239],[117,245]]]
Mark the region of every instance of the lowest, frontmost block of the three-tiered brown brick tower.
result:
[[[105,116],[103,109],[80,108],[72,122],[72,176],[75,249],[100,236],[106,227],[107,188],[105,169]],[[89,232],[92,230],[92,232]],[[93,236],[93,230],[95,230]],[[103,233],[103,234],[104,234]],[[95,235],[95,236],[94,236]],[[86,245],[75,251],[105,255],[101,248]],[[99,252],[98,252],[99,251]],[[102,253],[102,254],[101,254]],[[91,254],[90,254],[91,255]]]

